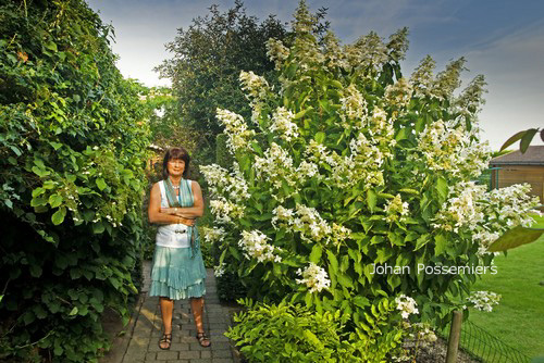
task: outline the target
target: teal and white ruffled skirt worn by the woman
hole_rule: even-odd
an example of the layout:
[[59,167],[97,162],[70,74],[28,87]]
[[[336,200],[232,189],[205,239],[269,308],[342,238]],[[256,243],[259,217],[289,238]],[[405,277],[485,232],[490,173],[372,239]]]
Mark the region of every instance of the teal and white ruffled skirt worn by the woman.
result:
[[200,298],[206,293],[206,267],[200,249],[154,247],[149,296],[173,300]]

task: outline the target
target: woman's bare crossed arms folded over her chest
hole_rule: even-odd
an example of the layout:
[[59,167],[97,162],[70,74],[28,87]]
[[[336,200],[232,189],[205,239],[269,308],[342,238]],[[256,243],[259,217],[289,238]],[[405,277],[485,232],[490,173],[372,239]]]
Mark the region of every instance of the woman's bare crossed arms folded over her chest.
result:
[[187,226],[193,226],[195,220],[203,214],[202,190],[197,182],[191,182],[194,204],[187,208],[162,208],[161,209],[161,189],[159,183],[156,183],[151,188],[149,198],[149,208],[147,214],[150,223],[158,224],[174,224],[182,223]]

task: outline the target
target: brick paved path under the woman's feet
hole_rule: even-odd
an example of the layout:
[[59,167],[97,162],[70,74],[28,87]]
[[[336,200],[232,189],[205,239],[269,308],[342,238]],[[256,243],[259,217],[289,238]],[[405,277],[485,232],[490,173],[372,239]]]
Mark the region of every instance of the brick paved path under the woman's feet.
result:
[[211,339],[211,347],[202,348],[198,343],[195,323],[188,300],[176,301],[172,328],[172,347],[161,350],[158,341],[161,337],[161,314],[159,299],[148,297],[150,264],[144,266],[144,288],[138,310],[131,322],[132,328],[126,350],[118,359],[120,363],[232,363],[239,359],[231,348],[228,339],[223,336],[231,320],[231,309],[222,306],[215,289],[213,271],[208,268],[205,297],[205,329]]

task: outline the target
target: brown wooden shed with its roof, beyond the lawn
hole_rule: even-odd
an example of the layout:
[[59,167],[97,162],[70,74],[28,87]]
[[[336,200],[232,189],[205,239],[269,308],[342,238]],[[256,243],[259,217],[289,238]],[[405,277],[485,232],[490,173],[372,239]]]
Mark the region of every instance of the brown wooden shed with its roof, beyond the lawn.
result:
[[526,153],[518,150],[492,159],[490,166],[492,188],[528,183],[531,185],[531,193],[537,196],[541,204],[544,204],[544,146],[532,146]]

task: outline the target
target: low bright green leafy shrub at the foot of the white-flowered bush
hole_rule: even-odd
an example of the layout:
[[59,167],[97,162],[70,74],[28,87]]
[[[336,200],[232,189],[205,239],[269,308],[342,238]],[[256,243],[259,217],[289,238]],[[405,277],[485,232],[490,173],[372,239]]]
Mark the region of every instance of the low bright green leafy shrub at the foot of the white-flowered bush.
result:
[[393,305],[386,299],[368,316],[368,334],[343,333],[341,311],[316,312],[300,304],[254,303],[250,299],[238,303],[246,311],[235,315],[235,325],[225,335],[242,347],[249,362],[384,362],[401,348],[401,329],[381,331],[395,324],[390,320]]

